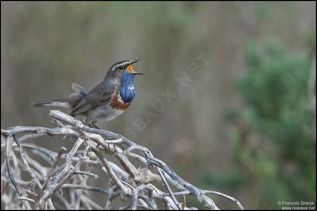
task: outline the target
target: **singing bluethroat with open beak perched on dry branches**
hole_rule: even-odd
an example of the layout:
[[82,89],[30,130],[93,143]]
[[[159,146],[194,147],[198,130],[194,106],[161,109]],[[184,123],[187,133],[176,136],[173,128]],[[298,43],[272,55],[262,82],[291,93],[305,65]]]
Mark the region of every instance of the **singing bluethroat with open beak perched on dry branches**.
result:
[[[133,79],[136,74],[132,66],[135,61],[118,61],[113,64],[105,79],[87,92],[76,83],[72,88],[76,93],[68,97],[39,101],[31,103],[32,107],[55,106],[71,110],[69,115],[83,118],[89,127],[97,127],[100,120],[109,121],[122,112],[131,104],[135,96]],[[92,125],[93,126],[92,126]]]

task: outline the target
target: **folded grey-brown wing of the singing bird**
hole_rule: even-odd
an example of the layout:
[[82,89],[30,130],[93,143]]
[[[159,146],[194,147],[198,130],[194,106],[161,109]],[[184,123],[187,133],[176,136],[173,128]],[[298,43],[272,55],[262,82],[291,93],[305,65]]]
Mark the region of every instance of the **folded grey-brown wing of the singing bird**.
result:
[[104,82],[101,82],[92,90],[90,90],[77,105],[75,105],[74,109],[69,115],[73,116],[75,114],[87,112],[88,110],[107,102],[111,99],[114,91],[114,85],[105,85]]

